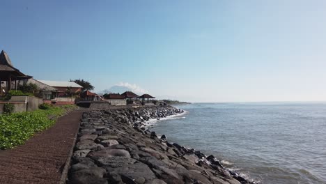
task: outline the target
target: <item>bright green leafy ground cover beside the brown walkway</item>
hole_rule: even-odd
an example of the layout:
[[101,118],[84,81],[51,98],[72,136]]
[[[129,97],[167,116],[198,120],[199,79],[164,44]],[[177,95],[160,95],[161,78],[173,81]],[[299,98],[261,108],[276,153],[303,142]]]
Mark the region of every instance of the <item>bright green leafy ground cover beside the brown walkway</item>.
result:
[[24,144],[36,132],[50,128],[56,123],[57,118],[75,108],[75,105],[63,105],[33,112],[0,114],[0,149]]

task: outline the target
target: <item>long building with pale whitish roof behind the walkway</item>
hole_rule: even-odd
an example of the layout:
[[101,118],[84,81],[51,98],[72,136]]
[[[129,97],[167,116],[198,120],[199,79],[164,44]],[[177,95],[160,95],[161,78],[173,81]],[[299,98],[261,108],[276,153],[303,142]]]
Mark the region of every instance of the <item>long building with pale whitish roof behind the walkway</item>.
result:
[[75,82],[63,82],[63,81],[48,81],[48,80],[38,80],[43,84],[47,84],[47,86],[52,86],[56,89],[56,97],[65,97],[67,96],[67,92],[70,93],[78,93],[81,92],[83,86]]

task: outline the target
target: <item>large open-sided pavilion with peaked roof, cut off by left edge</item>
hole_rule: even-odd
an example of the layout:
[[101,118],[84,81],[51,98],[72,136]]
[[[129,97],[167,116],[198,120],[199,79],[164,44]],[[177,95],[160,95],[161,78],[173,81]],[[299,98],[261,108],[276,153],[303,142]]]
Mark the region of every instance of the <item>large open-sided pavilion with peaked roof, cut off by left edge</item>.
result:
[[[12,89],[17,89],[21,84],[27,82],[27,79],[32,78],[29,75],[24,75],[17,68],[13,67],[8,54],[4,51],[0,53],[0,84],[1,84],[1,93],[3,90],[8,92]],[[5,84],[3,86],[2,84]]]

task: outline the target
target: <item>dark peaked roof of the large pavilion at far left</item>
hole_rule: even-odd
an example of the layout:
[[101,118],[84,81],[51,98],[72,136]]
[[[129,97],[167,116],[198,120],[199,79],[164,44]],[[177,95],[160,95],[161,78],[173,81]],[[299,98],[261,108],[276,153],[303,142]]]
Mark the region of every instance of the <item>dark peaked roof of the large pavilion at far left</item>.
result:
[[24,73],[20,72],[17,68],[13,67],[13,63],[8,56],[8,54],[4,51],[0,53],[0,79],[7,80],[9,75],[13,75],[15,79],[29,79],[31,76],[24,75]]

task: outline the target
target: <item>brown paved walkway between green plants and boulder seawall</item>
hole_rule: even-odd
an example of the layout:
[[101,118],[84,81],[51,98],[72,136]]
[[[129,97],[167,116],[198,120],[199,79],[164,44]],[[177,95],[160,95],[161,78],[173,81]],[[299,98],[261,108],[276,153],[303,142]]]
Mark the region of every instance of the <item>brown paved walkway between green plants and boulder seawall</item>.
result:
[[81,114],[70,112],[26,144],[0,151],[0,183],[59,183]]

